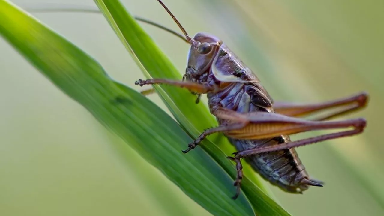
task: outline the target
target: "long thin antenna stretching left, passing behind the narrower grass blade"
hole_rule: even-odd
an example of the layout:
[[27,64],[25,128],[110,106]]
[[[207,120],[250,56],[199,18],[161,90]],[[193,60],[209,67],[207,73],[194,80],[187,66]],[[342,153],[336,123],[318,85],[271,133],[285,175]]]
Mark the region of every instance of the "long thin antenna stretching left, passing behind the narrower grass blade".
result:
[[[78,13],[95,13],[95,14],[101,14],[101,11],[98,9],[98,8],[90,8],[90,7],[81,7],[81,6],[69,6],[69,5],[60,5],[60,7],[33,7],[33,8],[26,8],[27,11],[30,11],[30,12],[36,12],[36,13],[51,13],[51,12],[78,12]],[[184,35],[181,35],[180,33],[177,33],[175,32],[174,30],[171,30],[165,26],[162,26],[158,23],[155,23],[155,22],[152,22],[151,20],[147,20],[145,18],[142,18],[142,17],[137,17],[137,16],[134,16],[134,18],[137,20],[137,21],[140,21],[140,22],[143,22],[143,23],[147,23],[149,25],[153,25],[157,28],[161,28],[162,30],[165,30],[169,33],[171,33],[172,35],[175,35],[176,37],[179,37],[181,38],[182,40],[184,40],[185,42],[187,43],[190,43],[185,37]]]

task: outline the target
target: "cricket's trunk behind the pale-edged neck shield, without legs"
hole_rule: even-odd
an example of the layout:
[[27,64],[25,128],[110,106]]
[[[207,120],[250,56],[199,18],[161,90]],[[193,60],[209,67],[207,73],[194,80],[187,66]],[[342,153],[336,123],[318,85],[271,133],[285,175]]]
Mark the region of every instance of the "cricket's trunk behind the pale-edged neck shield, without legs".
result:
[[[260,93],[259,95],[257,92],[260,91],[254,91],[257,89],[260,89],[258,84],[233,83],[220,93],[208,95],[210,107],[220,106],[241,113],[253,111],[273,112],[271,108],[262,108],[254,104],[255,100],[252,100],[254,97],[270,101],[270,98],[265,94]],[[266,102],[262,103],[262,105],[268,104]],[[218,121],[219,124],[225,123],[220,119]],[[237,151],[278,145],[290,141],[289,136],[285,135],[263,140],[238,140],[229,137],[228,139],[236,147]],[[308,185],[301,182],[305,178],[309,179],[308,173],[306,173],[305,167],[294,149],[250,155],[245,160],[264,179],[287,192],[301,193],[308,189]]]

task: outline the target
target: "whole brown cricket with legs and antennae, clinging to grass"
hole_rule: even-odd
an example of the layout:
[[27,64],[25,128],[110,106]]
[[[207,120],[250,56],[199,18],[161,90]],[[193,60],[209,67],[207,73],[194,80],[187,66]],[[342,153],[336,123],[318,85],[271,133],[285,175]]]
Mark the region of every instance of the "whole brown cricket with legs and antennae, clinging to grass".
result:
[[[197,95],[199,103],[207,95],[209,110],[217,118],[218,126],[203,131],[192,143],[186,144],[183,153],[196,148],[207,136],[223,133],[237,152],[228,156],[236,164],[234,182],[237,199],[243,178],[242,159],[262,178],[288,193],[301,194],[310,186],[323,186],[305,170],[295,148],[321,141],[358,135],[364,131],[366,120],[354,118],[331,120],[361,110],[367,105],[365,92],[333,101],[296,104],[273,101],[257,76],[225,43],[214,35],[197,33],[193,38],[170,12],[157,0],[178,25],[183,35],[157,23],[135,17],[141,22],[162,28],[190,44],[187,67],[182,80],[138,80],[136,85],[172,85],[185,88]],[[153,90],[142,91],[144,95]],[[307,120],[303,117],[322,111],[335,111]],[[291,140],[290,135],[314,130],[342,129],[302,140]]]

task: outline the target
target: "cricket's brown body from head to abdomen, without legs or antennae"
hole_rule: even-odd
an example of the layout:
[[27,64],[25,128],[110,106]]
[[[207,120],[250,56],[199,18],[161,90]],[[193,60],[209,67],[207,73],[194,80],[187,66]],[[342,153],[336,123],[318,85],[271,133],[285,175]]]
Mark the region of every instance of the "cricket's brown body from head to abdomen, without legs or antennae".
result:
[[[257,77],[221,40],[205,33],[198,33],[194,40],[199,44],[210,43],[212,48],[209,53],[200,54],[198,47],[191,46],[185,80],[219,86],[217,92],[207,94],[212,114],[217,108],[240,113],[274,112],[272,99]],[[219,125],[227,124],[227,120],[217,120]],[[287,135],[262,140],[228,139],[238,151],[290,141]],[[294,149],[251,155],[245,160],[264,179],[285,191],[301,193],[308,189],[302,180],[310,178]]]

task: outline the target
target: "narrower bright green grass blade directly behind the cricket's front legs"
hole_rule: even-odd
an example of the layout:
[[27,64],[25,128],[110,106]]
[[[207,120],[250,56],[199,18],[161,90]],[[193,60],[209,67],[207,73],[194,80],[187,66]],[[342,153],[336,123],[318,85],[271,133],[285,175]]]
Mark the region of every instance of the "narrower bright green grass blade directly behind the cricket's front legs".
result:
[[[119,1],[95,0],[96,4],[107,18],[124,46],[140,66],[147,78],[170,78],[181,80],[180,73],[170,63],[169,59],[159,50],[144,30],[136,23],[134,18],[126,12]],[[170,111],[180,124],[193,136],[197,137],[202,130],[217,125],[214,117],[210,115],[203,104],[194,103],[195,96],[189,91],[172,86],[156,86]],[[204,121],[203,121],[204,120]],[[217,136],[211,136],[210,141],[215,141]],[[226,139],[220,140],[220,148],[215,142],[205,141],[202,144],[212,156],[231,176],[235,178],[233,164],[225,157],[234,151],[233,146]],[[185,143],[187,146],[187,143]],[[225,154],[223,153],[225,152]],[[260,215],[289,215],[281,206],[268,196],[263,183],[252,174],[249,167],[245,168],[247,177],[244,179],[243,192],[250,200],[254,210]],[[257,184],[257,186],[255,184]],[[231,187],[231,185],[229,185]]]

